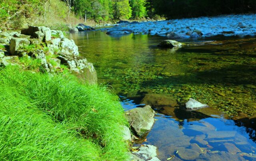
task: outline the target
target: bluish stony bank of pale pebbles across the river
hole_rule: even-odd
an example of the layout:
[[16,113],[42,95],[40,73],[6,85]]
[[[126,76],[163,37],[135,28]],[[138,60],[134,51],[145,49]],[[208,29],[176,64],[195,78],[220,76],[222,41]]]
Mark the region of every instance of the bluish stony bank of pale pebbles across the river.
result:
[[166,38],[199,38],[217,35],[255,36],[256,14],[183,18],[154,22],[122,22],[114,28],[102,28],[107,34],[150,34]]

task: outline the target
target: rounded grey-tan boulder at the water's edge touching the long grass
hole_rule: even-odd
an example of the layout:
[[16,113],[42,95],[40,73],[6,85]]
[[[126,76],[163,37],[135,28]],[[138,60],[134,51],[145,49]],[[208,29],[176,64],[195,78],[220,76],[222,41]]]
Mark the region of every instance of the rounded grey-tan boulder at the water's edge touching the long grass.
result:
[[138,107],[126,111],[126,119],[131,125],[132,130],[137,135],[142,135],[151,130],[154,125],[155,111],[149,106]]

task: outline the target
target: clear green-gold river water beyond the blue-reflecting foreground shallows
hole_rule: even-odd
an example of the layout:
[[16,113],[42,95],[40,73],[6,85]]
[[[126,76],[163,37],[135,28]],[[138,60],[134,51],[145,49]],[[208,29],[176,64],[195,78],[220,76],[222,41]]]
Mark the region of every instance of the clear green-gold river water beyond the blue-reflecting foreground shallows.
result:
[[70,38],[94,64],[99,83],[112,85],[120,95],[132,97],[151,89],[170,93],[180,103],[192,97],[231,116],[256,113],[255,38],[230,38],[176,51],[157,48],[164,40],[160,36],[112,37],[98,31]]

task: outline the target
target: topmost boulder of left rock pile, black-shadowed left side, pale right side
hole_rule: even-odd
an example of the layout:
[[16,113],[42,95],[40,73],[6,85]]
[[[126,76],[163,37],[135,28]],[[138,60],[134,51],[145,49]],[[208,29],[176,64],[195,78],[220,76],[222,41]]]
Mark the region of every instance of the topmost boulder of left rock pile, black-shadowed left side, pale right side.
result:
[[21,30],[21,34],[30,35],[33,38],[38,38],[40,41],[50,41],[51,40],[51,30],[45,26],[29,26],[26,29]]

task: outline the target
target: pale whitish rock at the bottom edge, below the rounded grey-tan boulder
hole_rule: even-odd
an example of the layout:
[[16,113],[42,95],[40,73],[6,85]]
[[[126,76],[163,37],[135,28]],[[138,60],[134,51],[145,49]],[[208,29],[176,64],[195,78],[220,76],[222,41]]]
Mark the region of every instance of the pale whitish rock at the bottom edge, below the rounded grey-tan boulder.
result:
[[139,147],[139,151],[133,152],[132,154],[136,155],[140,159],[143,159],[144,161],[148,161],[150,159],[153,159],[152,161],[159,161],[159,159],[156,158],[156,149],[157,147],[153,145],[143,144]]

